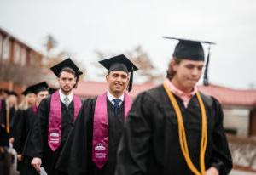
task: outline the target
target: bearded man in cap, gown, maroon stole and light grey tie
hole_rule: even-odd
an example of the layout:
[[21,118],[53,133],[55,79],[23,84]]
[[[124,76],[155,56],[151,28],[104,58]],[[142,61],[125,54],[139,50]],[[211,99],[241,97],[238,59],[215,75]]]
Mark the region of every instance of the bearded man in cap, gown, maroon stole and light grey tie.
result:
[[59,158],[63,144],[78,116],[81,99],[73,95],[79,76],[82,74],[71,59],[50,68],[58,76],[60,90],[43,99],[38,107],[38,119],[34,122],[28,156],[32,156],[32,166],[40,172],[40,167],[54,175],[55,163]]

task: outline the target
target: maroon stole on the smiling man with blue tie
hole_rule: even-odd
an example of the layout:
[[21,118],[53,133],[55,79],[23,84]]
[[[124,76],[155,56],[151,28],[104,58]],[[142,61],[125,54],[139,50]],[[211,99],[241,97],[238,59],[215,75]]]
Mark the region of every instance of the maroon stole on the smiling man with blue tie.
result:
[[[108,109],[107,93],[96,99],[93,122],[92,161],[96,167],[102,168],[108,161]],[[132,101],[125,93],[125,119],[131,109]],[[113,155],[115,156],[115,155]]]

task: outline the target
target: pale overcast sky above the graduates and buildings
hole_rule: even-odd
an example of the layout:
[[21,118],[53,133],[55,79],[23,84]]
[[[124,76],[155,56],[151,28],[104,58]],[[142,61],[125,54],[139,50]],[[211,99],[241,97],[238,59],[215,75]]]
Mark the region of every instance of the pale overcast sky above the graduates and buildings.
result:
[[90,80],[96,50],[124,54],[141,45],[165,75],[177,42],[162,36],[216,42],[210,83],[256,88],[255,0],[0,0],[0,27],[42,52],[51,34]]

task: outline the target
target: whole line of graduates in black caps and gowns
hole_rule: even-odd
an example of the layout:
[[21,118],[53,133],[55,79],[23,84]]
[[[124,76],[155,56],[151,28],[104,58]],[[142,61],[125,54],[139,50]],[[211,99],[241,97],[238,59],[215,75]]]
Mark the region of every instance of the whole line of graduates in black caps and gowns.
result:
[[179,41],[166,80],[134,101],[138,68],[124,54],[99,61],[108,88],[95,98],[73,94],[82,72],[72,59],[50,68],[59,89],[38,82],[20,104],[1,89],[0,174],[228,174],[222,107],[196,88],[209,59],[201,43],[213,43],[166,38]]

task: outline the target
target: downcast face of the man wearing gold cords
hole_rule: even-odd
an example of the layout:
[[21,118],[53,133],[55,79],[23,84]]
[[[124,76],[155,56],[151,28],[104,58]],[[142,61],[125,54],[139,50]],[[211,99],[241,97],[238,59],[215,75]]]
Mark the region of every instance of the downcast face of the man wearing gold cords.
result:
[[204,66],[203,61],[183,59],[179,64],[174,63],[173,70],[176,74],[172,81],[177,82],[183,91],[191,90],[199,81]]

